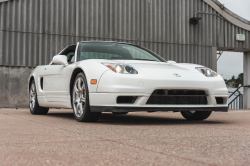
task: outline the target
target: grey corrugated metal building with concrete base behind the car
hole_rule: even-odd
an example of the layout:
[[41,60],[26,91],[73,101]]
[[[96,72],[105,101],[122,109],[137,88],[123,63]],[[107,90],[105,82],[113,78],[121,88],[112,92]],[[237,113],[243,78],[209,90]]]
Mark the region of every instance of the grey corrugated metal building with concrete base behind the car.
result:
[[[84,40],[134,43],[214,70],[218,50],[245,52],[250,84],[250,21],[217,0],[0,0],[0,13],[0,108],[28,107],[33,68]],[[244,99],[250,108],[248,89]]]

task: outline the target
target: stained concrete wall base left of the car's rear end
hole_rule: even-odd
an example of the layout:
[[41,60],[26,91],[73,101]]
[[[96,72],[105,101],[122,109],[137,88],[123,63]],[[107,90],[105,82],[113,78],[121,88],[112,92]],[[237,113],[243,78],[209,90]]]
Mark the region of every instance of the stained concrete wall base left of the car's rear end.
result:
[[33,68],[0,67],[0,108],[28,108],[28,77]]

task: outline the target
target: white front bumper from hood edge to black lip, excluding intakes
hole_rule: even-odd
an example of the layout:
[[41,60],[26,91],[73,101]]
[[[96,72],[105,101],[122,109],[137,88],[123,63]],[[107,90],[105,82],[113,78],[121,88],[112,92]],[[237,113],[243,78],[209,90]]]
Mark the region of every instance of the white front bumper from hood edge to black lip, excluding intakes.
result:
[[[180,73],[180,72],[179,72]],[[89,93],[93,112],[135,112],[135,111],[228,111],[228,90],[224,80],[218,76],[208,78],[200,73],[181,73],[176,78],[167,72],[162,74],[123,75],[106,71],[100,78],[97,93]],[[207,95],[206,105],[157,105],[147,104],[154,90],[202,90]],[[117,104],[119,96],[136,96],[133,104]],[[224,103],[217,104],[216,97],[223,97]]]

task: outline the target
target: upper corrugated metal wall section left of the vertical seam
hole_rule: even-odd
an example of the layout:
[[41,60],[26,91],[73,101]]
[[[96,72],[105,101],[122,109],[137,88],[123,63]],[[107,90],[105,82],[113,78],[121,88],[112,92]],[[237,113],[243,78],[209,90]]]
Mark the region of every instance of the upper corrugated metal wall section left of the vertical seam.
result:
[[75,35],[76,1],[15,0],[5,6],[2,30]]

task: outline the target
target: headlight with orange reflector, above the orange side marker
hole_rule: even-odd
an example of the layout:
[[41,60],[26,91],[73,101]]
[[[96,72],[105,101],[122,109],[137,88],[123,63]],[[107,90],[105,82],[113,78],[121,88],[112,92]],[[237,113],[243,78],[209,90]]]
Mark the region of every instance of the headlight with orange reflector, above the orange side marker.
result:
[[116,63],[102,63],[102,64],[110,68],[115,73],[138,74],[138,72],[130,65],[116,64]]

